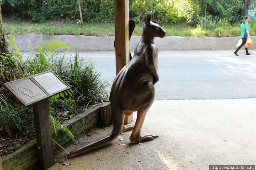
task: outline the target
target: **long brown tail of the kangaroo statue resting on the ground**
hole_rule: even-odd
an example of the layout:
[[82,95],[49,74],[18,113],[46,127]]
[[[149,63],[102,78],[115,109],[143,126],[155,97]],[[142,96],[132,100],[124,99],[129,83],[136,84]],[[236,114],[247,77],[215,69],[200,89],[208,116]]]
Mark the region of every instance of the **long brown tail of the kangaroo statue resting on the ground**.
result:
[[104,145],[107,145],[110,142],[112,142],[114,139],[116,139],[118,137],[118,135],[120,135],[123,125],[124,125],[123,110],[119,109],[119,107],[114,107],[114,104],[112,104],[111,105],[111,113],[112,113],[112,121],[113,121],[112,132],[109,135],[107,135],[99,140],[96,140],[95,142],[91,142],[81,148],[71,151],[67,155],[68,158],[71,158],[73,156],[76,156],[78,154],[87,152],[87,151],[95,149],[95,148],[99,148]]

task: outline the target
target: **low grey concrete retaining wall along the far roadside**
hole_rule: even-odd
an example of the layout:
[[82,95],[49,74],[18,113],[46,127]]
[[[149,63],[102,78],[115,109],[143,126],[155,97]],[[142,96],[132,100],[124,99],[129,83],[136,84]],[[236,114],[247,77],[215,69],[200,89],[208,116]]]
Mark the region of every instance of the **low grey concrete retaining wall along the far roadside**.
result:
[[[14,36],[14,35],[12,35]],[[114,36],[94,37],[85,35],[50,35],[43,34],[24,34],[16,35],[16,45],[21,51],[27,51],[28,39],[33,48],[41,41],[62,41],[69,45],[73,50],[79,51],[114,51]],[[134,51],[140,41],[140,36],[132,36],[130,39],[130,50]],[[165,38],[155,38],[155,44],[159,50],[230,50],[236,49],[236,44],[240,37],[177,37],[169,36]],[[252,41],[256,43],[256,36],[252,36]],[[14,50],[13,47],[9,49]],[[256,45],[253,45],[256,49]]]

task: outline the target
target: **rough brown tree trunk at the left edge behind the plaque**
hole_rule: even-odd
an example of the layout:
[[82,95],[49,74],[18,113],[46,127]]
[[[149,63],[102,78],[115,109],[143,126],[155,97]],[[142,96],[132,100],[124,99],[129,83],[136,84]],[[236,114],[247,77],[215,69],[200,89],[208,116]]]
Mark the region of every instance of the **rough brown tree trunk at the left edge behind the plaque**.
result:
[[[12,58],[12,56],[7,54],[9,54],[9,50],[7,48],[2,26],[2,10],[0,3],[0,62],[2,63],[2,65],[5,66],[4,72],[0,74],[0,93],[3,94],[6,98],[8,98],[8,100],[12,100],[13,97],[10,95],[10,93],[7,92],[7,90],[5,90],[4,88],[2,88],[3,83],[20,79],[23,77],[23,74],[15,60]],[[3,63],[2,56],[8,57],[8,62]]]

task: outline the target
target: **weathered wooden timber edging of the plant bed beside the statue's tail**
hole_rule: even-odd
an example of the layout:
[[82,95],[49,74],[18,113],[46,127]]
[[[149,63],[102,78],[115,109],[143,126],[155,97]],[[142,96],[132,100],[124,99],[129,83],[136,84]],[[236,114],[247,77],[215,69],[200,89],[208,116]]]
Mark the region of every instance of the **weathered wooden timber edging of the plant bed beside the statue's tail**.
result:
[[[63,123],[73,135],[82,137],[92,128],[111,124],[110,102],[104,102],[93,106],[89,110],[72,117],[68,123]],[[57,130],[58,135],[53,139],[63,148],[73,143],[67,133]],[[53,142],[54,154],[58,154],[62,148]],[[33,170],[38,166],[37,144],[34,140],[28,142],[19,150],[4,156],[2,159],[3,170]]]

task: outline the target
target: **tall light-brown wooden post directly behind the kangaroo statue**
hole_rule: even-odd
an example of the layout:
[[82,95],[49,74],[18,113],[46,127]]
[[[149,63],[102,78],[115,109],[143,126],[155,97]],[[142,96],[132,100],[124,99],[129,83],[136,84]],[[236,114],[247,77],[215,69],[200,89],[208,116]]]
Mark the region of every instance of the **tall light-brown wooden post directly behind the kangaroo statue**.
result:
[[[116,74],[129,62],[129,0],[115,0]],[[125,116],[124,124],[133,120]]]

